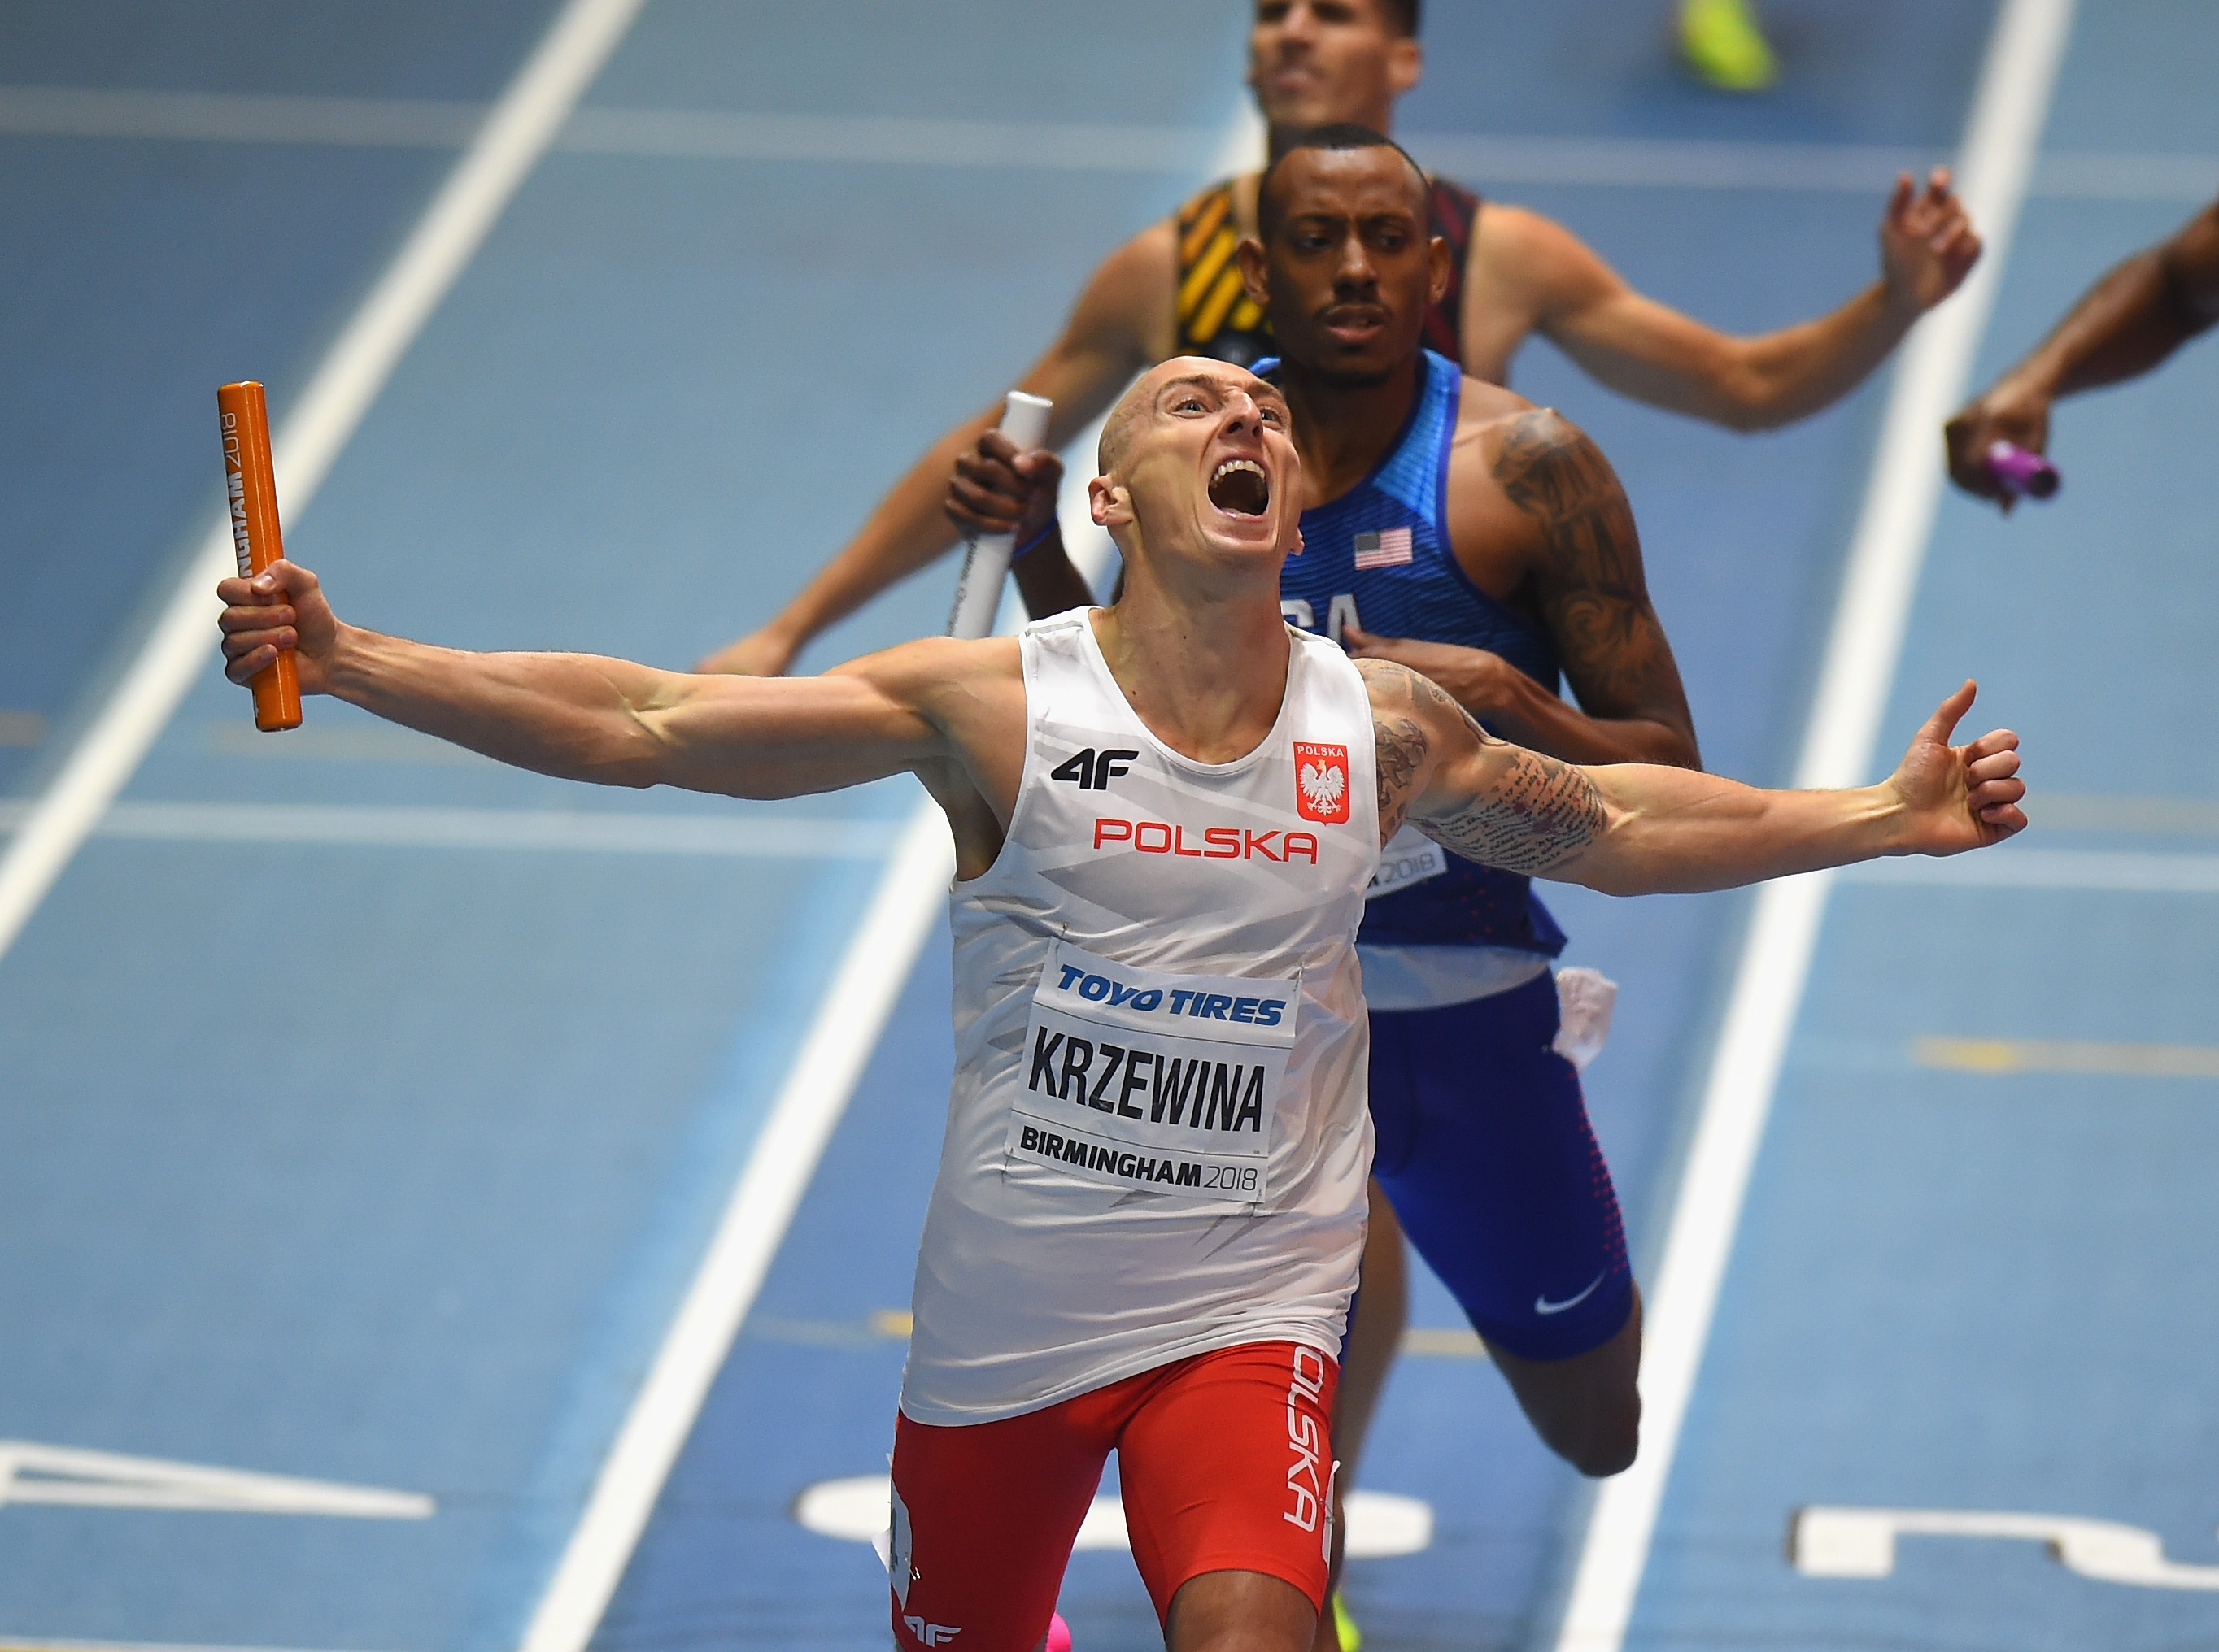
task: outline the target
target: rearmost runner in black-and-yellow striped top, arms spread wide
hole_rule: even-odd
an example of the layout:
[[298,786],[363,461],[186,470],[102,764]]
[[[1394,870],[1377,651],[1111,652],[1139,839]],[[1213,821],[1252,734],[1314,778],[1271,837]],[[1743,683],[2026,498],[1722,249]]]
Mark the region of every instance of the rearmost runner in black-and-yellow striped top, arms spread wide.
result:
[[[1314,126],[1394,131],[1394,104],[1420,69],[1418,0],[1256,4],[1247,84],[1271,153]],[[1944,171],[1924,191],[1897,177],[1879,220],[1877,282],[1831,315],[1731,337],[1635,293],[1540,213],[1482,206],[1471,191],[1433,180],[1431,220],[1449,246],[1449,286],[1429,306],[1429,348],[1476,379],[1507,384],[1518,346],[1540,333],[1622,395],[1737,430],[1793,424],[1853,390],[1979,257]],[[1234,248],[1254,233],[1249,173],[1205,188],[1103,259],[1063,337],[1019,379],[1056,404],[1050,448],[1067,443],[1152,361],[1212,355],[1247,364],[1276,353],[1263,306],[1234,266]],[[941,557],[954,543],[941,514],[950,468],[999,417],[1001,401],[943,435],[783,612],[710,654],[701,670],[774,676],[817,632]]]

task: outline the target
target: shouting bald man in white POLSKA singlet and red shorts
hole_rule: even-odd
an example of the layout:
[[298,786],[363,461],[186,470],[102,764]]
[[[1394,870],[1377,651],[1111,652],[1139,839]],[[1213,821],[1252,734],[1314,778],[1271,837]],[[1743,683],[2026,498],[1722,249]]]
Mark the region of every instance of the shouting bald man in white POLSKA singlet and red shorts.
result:
[[[1613,894],[2026,825],[2017,736],[1948,745],[1970,683],[1888,781],[1757,792],[1536,756],[1287,628],[1287,421],[1243,368],[1156,368],[1090,486],[1114,608],[799,681],[379,636],[293,563],[217,585],[233,681],[291,650],[306,694],[541,774],[766,798],[908,772],[945,809],[956,1078],[894,1432],[903,1652],[1032,1652],[1110,1450],[1172,1652],[1311,1643],[1371,1158],[1354,936],[1405,820]],[[1081,752],[1085,785],[1052,778]]]

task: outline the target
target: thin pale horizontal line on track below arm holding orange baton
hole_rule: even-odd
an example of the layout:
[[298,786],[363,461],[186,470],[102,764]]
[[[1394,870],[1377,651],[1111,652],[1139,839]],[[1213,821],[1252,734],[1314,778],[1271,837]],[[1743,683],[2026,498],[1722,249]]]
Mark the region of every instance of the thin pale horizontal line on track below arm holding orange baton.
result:
[[[0,832],[22,809],[0,803]],[[115,803],[98,838],[133,843],[320,843],[377,849],[566,849],[581,854],[877,860],[888,820],[805,816],[615,814],[592,809],[446,809],[340,803]]]

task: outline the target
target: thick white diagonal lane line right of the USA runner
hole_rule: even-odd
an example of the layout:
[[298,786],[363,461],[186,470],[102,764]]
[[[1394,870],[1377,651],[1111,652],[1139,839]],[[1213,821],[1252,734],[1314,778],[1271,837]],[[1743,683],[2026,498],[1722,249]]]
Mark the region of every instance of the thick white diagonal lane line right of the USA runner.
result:
[[[1942,492],[1942,421],[1995,304],[2070,24],[2073,0],[2006,0],[1997,13],[1957,169],[1988,255],[1919,324],[1895,366],[1797,787],[1857,785],[1871,767]],[[1595,1495],[1558,1652],[1620,1652],[1624,1643],[1824,905],[1822,876],[1773,883],[1755,898],[1649,1297],[1642,1450]]]

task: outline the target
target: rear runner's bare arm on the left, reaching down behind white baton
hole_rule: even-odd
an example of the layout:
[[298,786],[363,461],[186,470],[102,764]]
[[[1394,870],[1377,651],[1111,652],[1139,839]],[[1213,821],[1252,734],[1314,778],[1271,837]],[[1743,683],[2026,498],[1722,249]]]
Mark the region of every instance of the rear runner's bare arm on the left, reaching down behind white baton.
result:
[[[1016,381],[1021,390],[1056,404],[1047,421],[1050,448],[1083,430],[1134,373],[1172,353],[1176,253],[1176,226],[1165,220],[1103,259],[1078,295],[1063,337]],[[996,401],[934,441],[777,619],[717,650],[699,670],[777,676],[817,632],[948,550],[954,543],[941,510],[948,477],[956,455],[970,452],[999,417]]]

